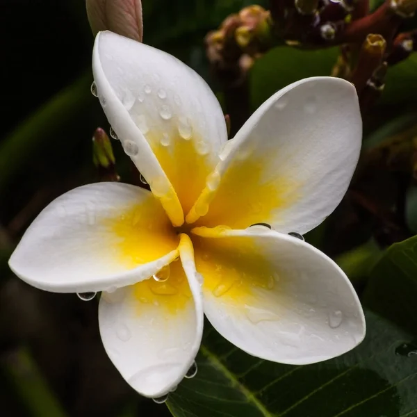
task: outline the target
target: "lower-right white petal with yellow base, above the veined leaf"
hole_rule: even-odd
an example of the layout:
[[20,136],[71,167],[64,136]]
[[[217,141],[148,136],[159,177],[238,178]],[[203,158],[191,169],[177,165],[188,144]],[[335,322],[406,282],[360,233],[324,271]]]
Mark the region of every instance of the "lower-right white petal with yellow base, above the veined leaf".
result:
[[256,357],[315,363],[358,345],[361,304],[343,271],[302,240],[256,227],[197,229],[204,312],[215,329]]

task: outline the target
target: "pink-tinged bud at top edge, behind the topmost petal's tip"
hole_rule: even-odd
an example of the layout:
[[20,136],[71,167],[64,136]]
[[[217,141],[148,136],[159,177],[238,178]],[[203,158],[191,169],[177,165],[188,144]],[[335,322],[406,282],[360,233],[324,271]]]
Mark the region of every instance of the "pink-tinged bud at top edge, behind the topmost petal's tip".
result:
[[88,21],[94,35],[112,31],[142,41],[142,2],[140,0],[86,0]]

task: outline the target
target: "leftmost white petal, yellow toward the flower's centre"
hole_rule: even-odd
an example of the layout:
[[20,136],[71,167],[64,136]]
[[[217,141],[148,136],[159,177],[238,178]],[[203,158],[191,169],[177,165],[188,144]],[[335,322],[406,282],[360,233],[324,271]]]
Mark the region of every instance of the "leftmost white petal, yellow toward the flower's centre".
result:
[[178,243],[152,193],[122,183],[95,183],[44,208],[9,264],[17,276],[43,290],[101,291],[152,276],[178,256]]

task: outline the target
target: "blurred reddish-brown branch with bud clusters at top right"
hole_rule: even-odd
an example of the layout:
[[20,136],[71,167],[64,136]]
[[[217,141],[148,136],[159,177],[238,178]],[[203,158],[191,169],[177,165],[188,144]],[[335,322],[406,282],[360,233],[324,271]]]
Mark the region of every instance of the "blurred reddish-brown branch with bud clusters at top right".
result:
[[[341,56],[332,75],[357,86],[362,110],[367,111],[384,89],[389,65],[416,50],[417,31],[399,33],[400,25],[414,15],[417,0],[386,0],[373,13],[368,0],[270,0],[270,10],[249,6],[224,20],[206,36],[206,51],[213,73],[227,97],[231,90],[248,101],[247,74],[256,59],[279,44],[301,49],[339,45]],[[324,75],[324,74],[323,74]],[[246,96],[245,96],[246,95]],[[246,98],[245,98],[246,97]],[[234,105],[237,105],[234,100]],[[249,115],[234,120],[234,127]]]

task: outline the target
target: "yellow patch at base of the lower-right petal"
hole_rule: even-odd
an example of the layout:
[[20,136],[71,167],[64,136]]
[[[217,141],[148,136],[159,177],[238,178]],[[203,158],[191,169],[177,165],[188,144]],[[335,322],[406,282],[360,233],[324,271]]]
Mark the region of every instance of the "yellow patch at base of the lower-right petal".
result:
[[245,306],[260,289],[279,286],[279,275],[250,238],[224,234],[224,228],[211,229],[211,238],[192,235],[195,265],[204,277],[204,291],[224,302]]

